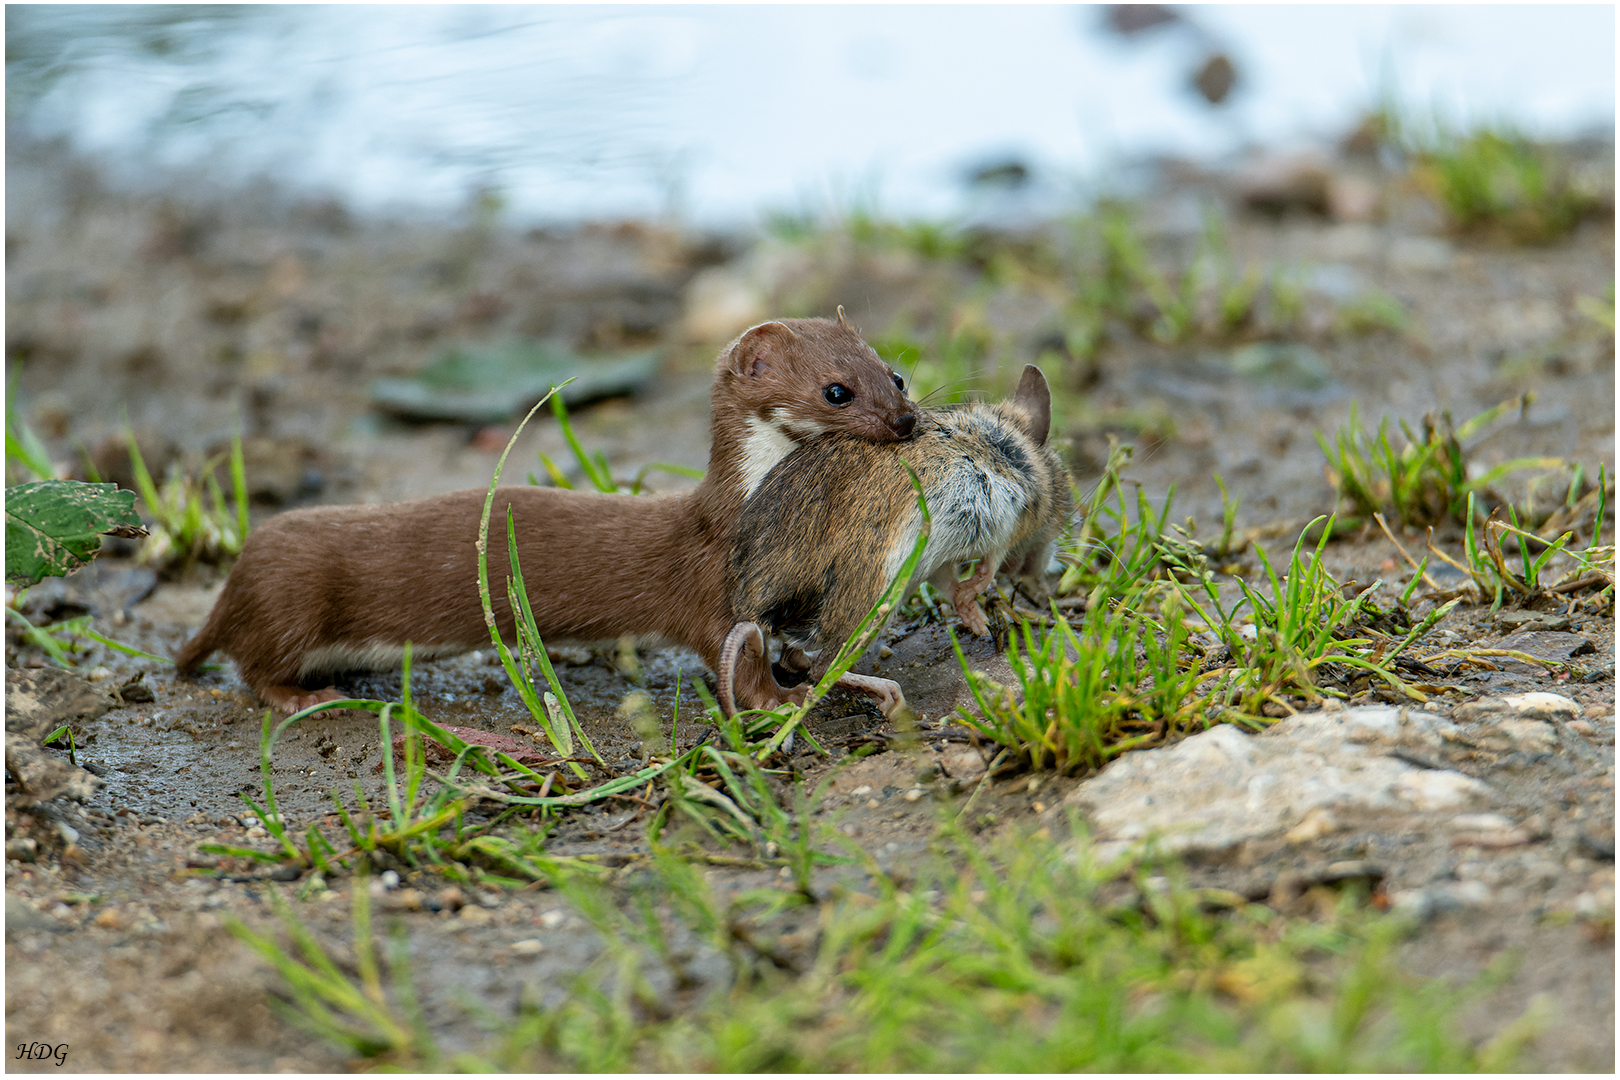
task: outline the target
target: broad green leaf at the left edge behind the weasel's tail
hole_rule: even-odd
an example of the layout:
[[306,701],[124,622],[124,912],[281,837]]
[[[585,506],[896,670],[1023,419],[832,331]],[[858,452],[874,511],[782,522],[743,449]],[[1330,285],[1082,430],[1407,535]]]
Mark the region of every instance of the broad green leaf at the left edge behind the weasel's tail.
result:
[[133,491],[73,479],[6,487],[5,580],[34,585],[73,573],[96,557],[104,534],[146,536]]

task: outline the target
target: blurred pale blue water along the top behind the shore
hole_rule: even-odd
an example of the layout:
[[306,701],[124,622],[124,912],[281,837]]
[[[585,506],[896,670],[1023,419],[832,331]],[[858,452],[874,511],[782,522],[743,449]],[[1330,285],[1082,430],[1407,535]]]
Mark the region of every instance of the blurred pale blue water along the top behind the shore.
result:
[[1392,100],[1612,138],[1614,44],[1609,5],[8,5],[6,123],[130,185],[269,176],[361,214],[949,217],[998,165],[1055,206]]

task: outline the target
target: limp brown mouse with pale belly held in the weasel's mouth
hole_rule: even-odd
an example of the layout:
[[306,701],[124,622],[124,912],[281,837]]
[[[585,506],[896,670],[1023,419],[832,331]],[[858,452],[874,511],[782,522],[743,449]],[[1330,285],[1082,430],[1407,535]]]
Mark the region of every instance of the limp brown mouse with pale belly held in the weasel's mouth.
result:
[[[804,701],[808,683],[776,683],[766,635],[781,635],[784,667],[807,667],[813,682],[910,555],[922,515],[904,463],[933,518],[914,581],[949,591],[969,630],[985,633],[977,594],[998,568],[1042,573],[1074,512],[1069,476],[1047,444],[1050,424],[1047,377],[1029,364],[1013,400],[925,410],[907,444],[826,434],[771,470],[744,505],[732,546],[737,623],[716,669],[727,716],[739,701]],[[957,581],[957,565],[970,559],[978,570]],[[839,685],[872,693],[886,716],[906,704],[888,678],[850,674]]]

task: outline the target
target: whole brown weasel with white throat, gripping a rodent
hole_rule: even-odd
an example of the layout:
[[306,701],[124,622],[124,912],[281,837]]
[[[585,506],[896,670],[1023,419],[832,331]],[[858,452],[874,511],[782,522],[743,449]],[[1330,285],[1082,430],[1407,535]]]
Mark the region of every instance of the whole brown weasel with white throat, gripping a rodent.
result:
[[[491,599],[505,599],[510,507],[535,622],[548,641],[661,636],[713,667],[734,619],[727,565],[744,499],[800,439],[907,439],[904,384],[839,319],[786,319],[721,351],[710,393],[703,483],[679,495],[501,487],[489,528]],[[194,669],[224,649],[261,699],[292,712],[337,699],[305,690],[342,670],[389,669],[489,641],[478,601],[478,520],[486,491],[392,505],[277,515],[248,538],[202,630],[175,657]],[[322,678],[324,682],[324,678]],[[752,690],[742,699],[752,701]]]

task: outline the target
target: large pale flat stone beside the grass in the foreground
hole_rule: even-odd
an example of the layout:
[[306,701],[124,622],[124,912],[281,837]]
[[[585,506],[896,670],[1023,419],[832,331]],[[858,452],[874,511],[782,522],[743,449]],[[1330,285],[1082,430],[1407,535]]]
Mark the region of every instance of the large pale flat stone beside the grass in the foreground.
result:
[[1150,837],[1162,850],[1223,850],[1288,832],[1324,808],[1460,810],[1490,789],[1388,756],[1432,751],[1455,730],[1406,708],[1306,712],[1260,735],[1218,725],[1174,746],[1124,755],[1066,801],[1085,814],[1105,857]]

